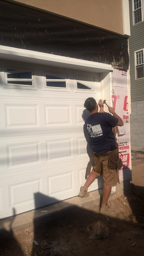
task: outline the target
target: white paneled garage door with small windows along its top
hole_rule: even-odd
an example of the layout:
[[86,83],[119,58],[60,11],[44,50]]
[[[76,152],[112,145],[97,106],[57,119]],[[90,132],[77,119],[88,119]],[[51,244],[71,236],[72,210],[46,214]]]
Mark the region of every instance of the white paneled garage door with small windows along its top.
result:
[[[96,73],[10,61],[1,61],[1,68],[4,218],[78,195],[89,160],[83,104],[101,93]],[[89,190],[97,188],[96,180]]]

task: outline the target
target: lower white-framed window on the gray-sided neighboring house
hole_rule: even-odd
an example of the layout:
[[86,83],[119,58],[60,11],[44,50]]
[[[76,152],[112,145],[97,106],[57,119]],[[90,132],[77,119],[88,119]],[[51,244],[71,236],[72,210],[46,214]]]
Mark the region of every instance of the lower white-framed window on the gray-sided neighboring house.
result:
[[144,49],[134,52],[135,55],[135,79],[144,78]]

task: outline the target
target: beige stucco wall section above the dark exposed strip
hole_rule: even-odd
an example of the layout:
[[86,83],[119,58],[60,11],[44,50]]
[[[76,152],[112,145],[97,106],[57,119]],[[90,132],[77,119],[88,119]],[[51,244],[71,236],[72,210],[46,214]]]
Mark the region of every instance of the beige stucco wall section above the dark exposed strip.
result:
[[122,0],[17,0],[80,22],[123,34]]

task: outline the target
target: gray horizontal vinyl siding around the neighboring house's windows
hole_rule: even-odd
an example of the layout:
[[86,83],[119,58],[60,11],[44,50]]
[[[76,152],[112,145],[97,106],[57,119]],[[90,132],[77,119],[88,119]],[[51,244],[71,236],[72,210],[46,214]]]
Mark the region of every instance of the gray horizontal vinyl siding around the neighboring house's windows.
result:
[[144,21],[133,26],[132,0],[129,0],[130,29],[129,62],[131,78],[131,101],[144,99],[144,78],[135,80],[134,51],[144,48]]

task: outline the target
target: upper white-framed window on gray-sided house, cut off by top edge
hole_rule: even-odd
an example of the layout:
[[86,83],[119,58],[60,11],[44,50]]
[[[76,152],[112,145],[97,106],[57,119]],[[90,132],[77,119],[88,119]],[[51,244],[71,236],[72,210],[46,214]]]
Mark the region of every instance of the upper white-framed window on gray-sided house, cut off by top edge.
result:
[[132,0],[133,25],[144,20],[144,0]]

